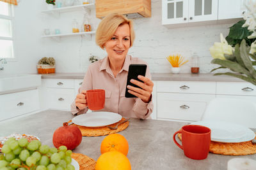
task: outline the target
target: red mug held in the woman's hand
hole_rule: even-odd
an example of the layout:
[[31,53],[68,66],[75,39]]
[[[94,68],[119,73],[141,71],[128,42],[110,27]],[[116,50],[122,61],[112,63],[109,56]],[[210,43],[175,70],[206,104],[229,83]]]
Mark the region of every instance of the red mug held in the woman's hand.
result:
[[105,104],[105,90],[94,89],[86,91],[87,105],[90,110],[102,110]]

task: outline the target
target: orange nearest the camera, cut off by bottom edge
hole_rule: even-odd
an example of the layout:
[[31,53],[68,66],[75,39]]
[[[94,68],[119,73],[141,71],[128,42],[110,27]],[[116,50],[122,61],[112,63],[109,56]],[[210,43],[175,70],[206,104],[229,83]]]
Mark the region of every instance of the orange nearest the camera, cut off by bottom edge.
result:
[[123,153],[111,151],[100,155],[95,170],[131,170],[131,164]]

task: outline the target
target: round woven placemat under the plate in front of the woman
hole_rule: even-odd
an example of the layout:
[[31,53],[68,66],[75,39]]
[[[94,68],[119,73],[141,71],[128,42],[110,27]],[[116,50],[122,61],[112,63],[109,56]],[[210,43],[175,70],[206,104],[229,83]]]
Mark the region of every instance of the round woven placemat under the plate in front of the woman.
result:
[[[122,118],[119,122],[121,122],[122,120],[125,120],[125,118]],[[116,124],[118,124],[118,122],[116,122],[115,124],[111,124],[109,126],[115,127]],[[76,125],[76,124],[73,124],[73,125]],[[129,125],[129,121],[124,122],[118,125],[118,128],[116,130],[109,129],[106,126],[104,127],[85,127],[81,125],[76,125],[76,126],[79,127],[83,136],[105,136],[108,134],[114,134],[116,132],[124,131],[124,129],[126,129],[128,125]]]

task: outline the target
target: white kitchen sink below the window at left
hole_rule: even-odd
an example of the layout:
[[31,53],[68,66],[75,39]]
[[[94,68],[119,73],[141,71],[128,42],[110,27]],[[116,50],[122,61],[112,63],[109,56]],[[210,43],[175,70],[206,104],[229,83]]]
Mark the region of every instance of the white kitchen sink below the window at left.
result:
[[3,74],[0,75],[0,94],[33,89],[41,85],[38,74]]

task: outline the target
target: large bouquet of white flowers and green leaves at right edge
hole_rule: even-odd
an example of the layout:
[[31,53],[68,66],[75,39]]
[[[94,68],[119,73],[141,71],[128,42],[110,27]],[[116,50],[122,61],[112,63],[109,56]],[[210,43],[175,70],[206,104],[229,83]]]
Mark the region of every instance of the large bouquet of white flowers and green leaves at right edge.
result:
[[[256,85],[256,2],[251,1],[246,8],[244,21],[230,27],[230,33],[225,39],[221,34],[221,42],[214,43],[210,53],[214,58],[211,63],[220,67],[212,69],[225,69],[228,72],[215,73],[240,78]],[[242,25],[243,24],[243,25]],[[234,46],[234,47],[232,47]]]

